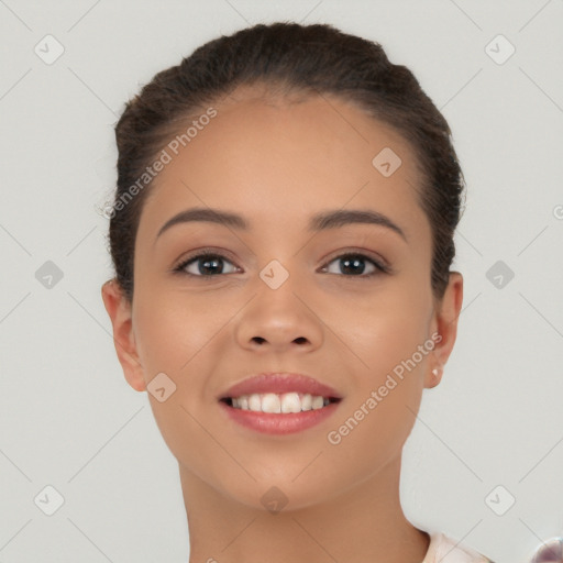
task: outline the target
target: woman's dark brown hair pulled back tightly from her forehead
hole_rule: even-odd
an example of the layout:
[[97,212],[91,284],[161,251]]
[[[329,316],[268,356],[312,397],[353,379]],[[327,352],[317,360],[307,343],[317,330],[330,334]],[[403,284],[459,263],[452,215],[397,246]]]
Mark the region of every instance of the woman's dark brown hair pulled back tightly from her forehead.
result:
[[[125,106],[115,125],[118,184],[109,241],[115,278],[133,299],[135,236],[148,187],[131,187],[180,123],[190,121],[238,86],[280,86],[284,95],[332,93],[397,130],[422,173],[419,205],[432,229],[431,285],[440,301],[455,255],[464,181],[448,122],[412,73],[394,65],[383,47],[330,24],[257,24],[198,47],[179,65],[154,76]],[[375,155],[374,155],[375,156]],[[147,184],[150,186],[150,183]],[[125,197],[129,191],[129,201]],[[121,203],[120,203],[121,201]]]

